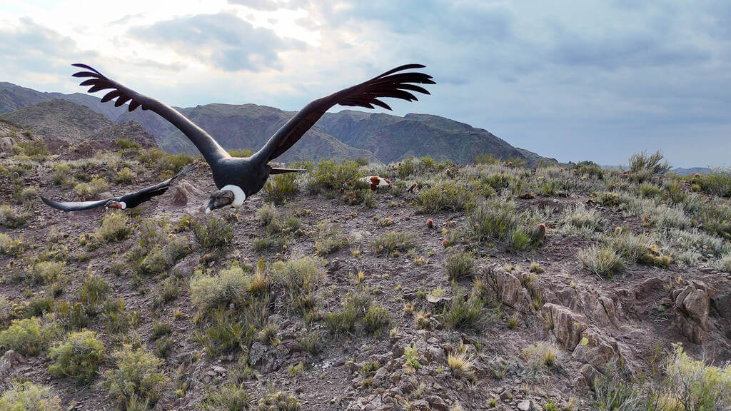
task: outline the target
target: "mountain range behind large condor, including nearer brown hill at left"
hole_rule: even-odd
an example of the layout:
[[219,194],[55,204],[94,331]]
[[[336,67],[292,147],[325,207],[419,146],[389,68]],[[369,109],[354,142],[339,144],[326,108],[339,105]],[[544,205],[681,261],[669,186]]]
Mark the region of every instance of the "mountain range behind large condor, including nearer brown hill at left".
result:
[[[254,104],[208,104],[175,109],[205,129],[224,148],[254,151],[295,115],[292,111]],[[115,108],[89,94],[46,93],[0,83],[0,113],[5,113],[0,118],[66,143],[79,138],[94,140],[124,135],[124,129],[134,132],[135,139],[148,143],[143,129],[157,146],[171,154],[197,152],[178,129],[155,113],[143,110],[129,113],[126,105]],[[125,125],[120,128],[115,124]],[[141,129],[135,124],[140,124]],[[475,155],[482,153],[504,160],[523,159],[529,166],[541,161],[556,162],[513,147],[485,129],[449,118],[414,113],[401,117],[356,110],[325,113],[279,160],[366,157],[387,163],[409,156],[430,156],[463,164],[474,161]]]

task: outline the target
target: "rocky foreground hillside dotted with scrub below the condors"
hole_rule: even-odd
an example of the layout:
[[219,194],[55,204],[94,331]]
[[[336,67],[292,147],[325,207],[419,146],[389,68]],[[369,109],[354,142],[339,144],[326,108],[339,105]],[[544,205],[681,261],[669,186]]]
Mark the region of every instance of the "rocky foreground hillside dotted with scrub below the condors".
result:
[[[206,215],[203,165],[64,214],[37,195],[129,192],[181,157],[9,153],[0,407],[731,407],[728,174],[332,162]],[[371,174],[392,186],[343,185]]]

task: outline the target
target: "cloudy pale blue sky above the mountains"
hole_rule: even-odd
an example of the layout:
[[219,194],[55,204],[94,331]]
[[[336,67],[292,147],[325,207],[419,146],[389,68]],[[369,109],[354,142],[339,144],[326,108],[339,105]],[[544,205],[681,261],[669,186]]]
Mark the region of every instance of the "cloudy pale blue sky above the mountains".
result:
[[0,0],[0,81],[83,91],[77,62],[170,105],[283,110],[421,63],[431,95],[393,114],[561,162],[731,166],[726,0]]

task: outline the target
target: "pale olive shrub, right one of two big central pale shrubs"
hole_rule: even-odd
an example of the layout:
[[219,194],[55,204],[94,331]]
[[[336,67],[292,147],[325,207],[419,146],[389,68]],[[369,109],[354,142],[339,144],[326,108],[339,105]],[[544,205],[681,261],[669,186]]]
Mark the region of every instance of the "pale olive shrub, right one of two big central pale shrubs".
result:
[[316,294],[324,276],[321,266],[322,262],[313,257],[277,261],[272,265],[274,282],[289,308],[301,314],[316,308]]

